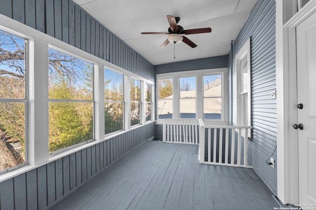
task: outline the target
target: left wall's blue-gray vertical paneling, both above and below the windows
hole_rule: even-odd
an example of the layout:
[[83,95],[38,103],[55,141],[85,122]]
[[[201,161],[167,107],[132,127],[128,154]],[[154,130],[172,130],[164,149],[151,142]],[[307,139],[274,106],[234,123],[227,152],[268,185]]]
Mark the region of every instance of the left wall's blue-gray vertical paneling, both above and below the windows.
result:
[[[0,14],[154,81],[154,65],[71,0],[1,0]],[[0,182],[0,209],[49,209],[154,136],[154,122]]]

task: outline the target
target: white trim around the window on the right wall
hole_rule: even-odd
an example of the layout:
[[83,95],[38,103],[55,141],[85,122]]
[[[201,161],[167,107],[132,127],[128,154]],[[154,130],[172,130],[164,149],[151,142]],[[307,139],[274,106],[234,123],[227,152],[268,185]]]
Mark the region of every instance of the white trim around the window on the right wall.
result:
[[[242,60],[244,57],[247,57],[247,125],[246,126],[251,126],[251,60],[250,60],[250,56],[251,56],[251,49],[250,49],[250,37],[245,41],[245,43],[242,45],[242,47],[240,48],[240,50],[237,52],[236,57],[235,57],[235,64],[236,64],[236,90],[237,90],[237,94],[236,94],[236,98],[237,98],[237,125],[241,125],[241,113],[242,113],[242,107],[241,107],[241,93],[240,92],[240,60]],[[245,136],[244,131],[241,133],[242,136]],[[251,138],[251,129],[248,129],[248,138]]]

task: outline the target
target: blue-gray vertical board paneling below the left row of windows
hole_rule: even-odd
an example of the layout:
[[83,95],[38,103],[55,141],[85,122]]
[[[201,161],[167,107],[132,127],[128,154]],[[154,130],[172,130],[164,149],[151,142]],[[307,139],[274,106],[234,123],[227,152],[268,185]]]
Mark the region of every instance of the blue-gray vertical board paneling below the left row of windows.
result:
[[128,131],[0,182],[0,209],[49,209],[120,156],[154,136],[155,123]]

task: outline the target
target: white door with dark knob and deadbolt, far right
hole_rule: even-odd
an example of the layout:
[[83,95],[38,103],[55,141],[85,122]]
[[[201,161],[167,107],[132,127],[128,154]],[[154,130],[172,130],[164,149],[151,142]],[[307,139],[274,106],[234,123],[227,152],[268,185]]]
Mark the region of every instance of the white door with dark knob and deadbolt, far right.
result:
[[316,13],[296,28],[296,47],[299,202],[316,208]]

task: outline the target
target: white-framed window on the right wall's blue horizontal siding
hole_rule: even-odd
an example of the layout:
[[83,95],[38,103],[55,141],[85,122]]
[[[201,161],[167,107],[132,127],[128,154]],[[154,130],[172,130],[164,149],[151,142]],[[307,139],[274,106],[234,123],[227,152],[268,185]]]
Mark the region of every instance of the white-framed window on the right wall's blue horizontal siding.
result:
[[[236,55],[237,125],[251,125],[250,38]],[[251,131],[248,130],[248,137]]]

